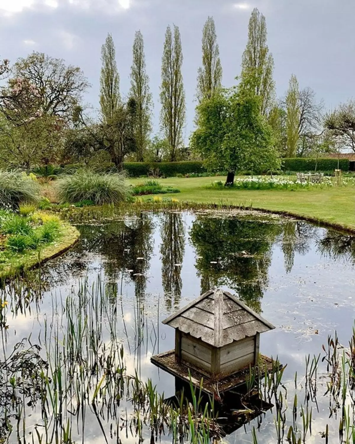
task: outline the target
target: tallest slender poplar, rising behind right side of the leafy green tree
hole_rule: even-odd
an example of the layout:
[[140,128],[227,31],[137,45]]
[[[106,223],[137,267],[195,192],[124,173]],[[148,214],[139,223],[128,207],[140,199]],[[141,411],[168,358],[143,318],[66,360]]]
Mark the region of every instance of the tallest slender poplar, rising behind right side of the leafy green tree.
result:
[[241,63],[241,82],[260,96],[260,113],[266,115],[275,97],[274,59],[267,45],[266,20],[255,8],[249,20],[248,43]]

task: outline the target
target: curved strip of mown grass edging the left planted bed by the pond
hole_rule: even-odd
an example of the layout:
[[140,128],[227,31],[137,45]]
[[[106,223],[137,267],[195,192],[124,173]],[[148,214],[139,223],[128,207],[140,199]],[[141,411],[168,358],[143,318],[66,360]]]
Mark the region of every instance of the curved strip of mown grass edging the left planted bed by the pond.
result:
[[34,268],[39,264],[64,253],[79,239],[79,231],[69,223],[60,221],[58,237],[37,250],[13,253],[6,262],[0,263],[0,280],[4,281]]

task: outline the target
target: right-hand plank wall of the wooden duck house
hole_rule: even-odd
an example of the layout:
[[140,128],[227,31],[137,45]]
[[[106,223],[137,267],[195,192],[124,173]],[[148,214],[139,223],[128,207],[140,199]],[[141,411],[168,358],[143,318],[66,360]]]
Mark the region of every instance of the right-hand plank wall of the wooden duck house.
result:
[[230,374],[255,362],[255,337],[247,337],[221,348],[222,374]]

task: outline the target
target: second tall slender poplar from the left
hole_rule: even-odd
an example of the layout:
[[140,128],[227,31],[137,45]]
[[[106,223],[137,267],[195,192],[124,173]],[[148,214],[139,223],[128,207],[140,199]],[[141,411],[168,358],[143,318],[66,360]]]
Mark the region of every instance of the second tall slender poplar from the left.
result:
[[130,73],[130,95],[137,103],[137,114],[134,128],[137,151],[136,160],[142,162],[152,131],[151,109],[152,95],[149,89],[149,77],[146,73],[146,56],[142,32],[137,31],[133,43],[133,62]]

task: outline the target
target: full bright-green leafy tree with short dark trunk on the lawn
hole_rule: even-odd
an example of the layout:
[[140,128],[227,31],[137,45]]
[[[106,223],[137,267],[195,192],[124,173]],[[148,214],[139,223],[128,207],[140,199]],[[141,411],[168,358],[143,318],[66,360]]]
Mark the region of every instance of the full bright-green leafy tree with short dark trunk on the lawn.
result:
[[260,115],[259,98],[245,91],[229,91],[197,107],[197,130],[191,138],[209,170],[226,170],[233,185],[238,170],[277,169],[280,159],[272,131]]

